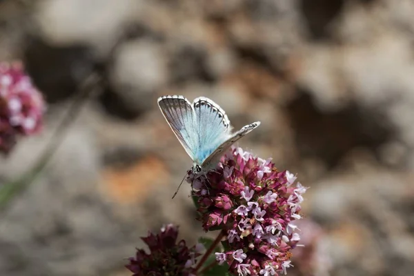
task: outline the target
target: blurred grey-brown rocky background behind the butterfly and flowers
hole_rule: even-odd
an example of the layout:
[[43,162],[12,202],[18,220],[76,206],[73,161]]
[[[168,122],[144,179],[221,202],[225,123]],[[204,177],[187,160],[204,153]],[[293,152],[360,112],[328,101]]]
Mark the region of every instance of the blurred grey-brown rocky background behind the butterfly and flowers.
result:
[[2,0],[0,60],[24,61],[46,130],[0,160],[16,179],[85,79],[104,81],[41,177],[0,217],[0,275],[130,275],[167,222],[195,242],[191,161],[157,97],[217,101],[239,142],[311,187],[288,275],[413,275],[414,1]]

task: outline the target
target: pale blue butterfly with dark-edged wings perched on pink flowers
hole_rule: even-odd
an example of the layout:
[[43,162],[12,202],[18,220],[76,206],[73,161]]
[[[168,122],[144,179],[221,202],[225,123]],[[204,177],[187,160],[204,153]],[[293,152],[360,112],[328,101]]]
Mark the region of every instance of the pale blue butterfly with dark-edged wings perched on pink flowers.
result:
[[226,112],[206,97],[198,97],[190,103],[183,96],[163,96],[158,98],[158,106],[193,159],[192,170],[196,175],[214,168],[230,146],[260,125],[256,121],[233,132]]

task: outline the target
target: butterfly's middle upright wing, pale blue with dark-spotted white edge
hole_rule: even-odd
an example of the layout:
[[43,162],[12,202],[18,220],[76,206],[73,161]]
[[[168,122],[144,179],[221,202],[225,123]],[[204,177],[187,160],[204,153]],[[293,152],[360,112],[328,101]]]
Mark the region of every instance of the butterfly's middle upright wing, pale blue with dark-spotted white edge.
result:
[[231,137],[231,128],[226,112],[214,101],[199,97],[193,101],[193,108],[199,145],[194,161],[201,165],[219,145]]

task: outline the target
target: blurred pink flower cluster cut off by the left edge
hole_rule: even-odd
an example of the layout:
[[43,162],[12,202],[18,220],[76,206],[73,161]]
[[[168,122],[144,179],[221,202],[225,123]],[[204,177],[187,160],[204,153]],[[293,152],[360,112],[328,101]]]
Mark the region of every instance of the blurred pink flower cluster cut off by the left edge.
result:
[[19,135],[41,129],[44,103],[21,63],[0,63],[0,151],[9,152]]

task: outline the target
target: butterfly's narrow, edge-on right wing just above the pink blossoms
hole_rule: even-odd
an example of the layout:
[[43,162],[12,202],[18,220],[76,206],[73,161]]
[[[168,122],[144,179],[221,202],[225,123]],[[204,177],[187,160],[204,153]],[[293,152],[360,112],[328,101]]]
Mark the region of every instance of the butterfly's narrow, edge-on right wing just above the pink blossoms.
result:
[[201,164],[201,168],[203,168],[203,170],[208,170],[211,168],[211,166],[215,166],[215,164],[219,161],[221,155],[223,155],[223,153],[226,152],[228,148],[235,144],[236,141],[244,137],[244,135],[248,134],[248,132],[257,128],[259,125],[260,122],[256,121],[252,124],[244,126],[241,130],[235,132],[230,138],[217,146],[217,148],[211,152],[211,154]]

